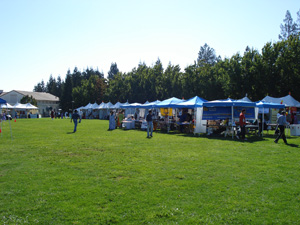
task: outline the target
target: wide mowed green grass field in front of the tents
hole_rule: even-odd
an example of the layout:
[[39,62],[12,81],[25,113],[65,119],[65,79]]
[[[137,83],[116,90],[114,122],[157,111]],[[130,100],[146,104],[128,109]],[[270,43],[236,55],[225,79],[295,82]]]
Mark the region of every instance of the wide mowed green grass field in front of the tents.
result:
[[10,124],[0,136],[1,224],[300,224],[300,138]]

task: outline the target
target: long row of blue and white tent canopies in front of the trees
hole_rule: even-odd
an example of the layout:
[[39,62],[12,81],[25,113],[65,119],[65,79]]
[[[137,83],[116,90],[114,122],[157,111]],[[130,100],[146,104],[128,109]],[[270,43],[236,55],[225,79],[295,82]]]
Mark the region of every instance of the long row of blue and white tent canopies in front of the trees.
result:
[[[219,114],[226,114],[226,116],[229,115],[229,118],[234,121],[234,118],[238,117],[238,114],[236,113],[238,108],[241,107],[247,107],[249,111],[252,111],[251,115],[255,115],[257,117],[257,113],[255,113],[254,108],[261,108],[262,113],[264,113],[265,108],[275,108],[275,109],[283,109],[285,107],[300,107],[300,103],[295,100],[292,96],[287,95],[282,98],[273,98],[270,96],[266,96],[264,99],[258,102],[252,102],[249,98],[244,97],[242,99],[224,99],[224,100],[214,100],[214,101],[207,101],[203,98],[200,98],[198,96],[195,96],[188,100],[178,99],[175,97],[166,99],[164,101],[154,101],[154,102],[145,102],[144,104],[141,103],[132,103],[129,104],[126,103],[120,103],[117,102],[116,104],[112,104],[110,102],[104,103],[102,102],[100,105],[95,104],[88,104],[86,106],[82,106],[78,108],[78,110],[100,110],[106,109],[108,110],[116,110],[116,109],[153,109],[153,108],[188,108],[188,109],[196,109],[195,110],[195,118],[196,118],[196,129],[198,126],[198,130],[205,129],[203,127],[203,124],[205,124],[205,120],[209,120],[210,118],[208,114],[208,109],[212,109],[211,111],[217,111],[213,113],[219,113]],[[205,108],[205,110],[203,110]],[[222,111],[223,109],[227,109],[226,112]],[[218,110],[222,109],[222,112],[218,112]],[[251,109],[251,110],[250,110]],[[225,113],[224,113],[225,112]],[[128,112],[127,112],[128,113]],[[125,111],[126,114],[126,111]],[[210,115],[211,116],[211,115]],[[215,115],[213,115],[215,116]],[[212,117],[213,117],[212,116]],[[264,116],[262,117],[264,118]],[[198,125],[197,125],[198,124]],[[201,131],[200,131],[201,132]],[[197,131],[195,131],[197,133]]]

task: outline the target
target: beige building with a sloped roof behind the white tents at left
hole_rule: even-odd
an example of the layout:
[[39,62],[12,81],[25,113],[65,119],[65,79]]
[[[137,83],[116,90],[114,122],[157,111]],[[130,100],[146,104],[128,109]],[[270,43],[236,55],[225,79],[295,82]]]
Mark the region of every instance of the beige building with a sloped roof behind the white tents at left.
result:
[[37,101],[37,107],[39,108],[39,114],[43,117],[49,116],[51,109],[55,111],[59,108],[59,98],[46,93],[46,92],[30,92],[30,91],[16,91],[12,90],[10,92],[0,91],[0,98],[4,99],[7,103],[15,105],[20,102],[24,96],[32,96]]

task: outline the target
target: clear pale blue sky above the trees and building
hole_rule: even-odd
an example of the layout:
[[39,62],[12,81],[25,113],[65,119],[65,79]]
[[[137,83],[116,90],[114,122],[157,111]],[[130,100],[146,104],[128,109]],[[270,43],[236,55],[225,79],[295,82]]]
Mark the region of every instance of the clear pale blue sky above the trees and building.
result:
[[68,69],[116,62],[130,72],[158,58],[182,71],[207,43],[217,55],[278,41],[299,0],[0,0],[0,89],[32,91]]

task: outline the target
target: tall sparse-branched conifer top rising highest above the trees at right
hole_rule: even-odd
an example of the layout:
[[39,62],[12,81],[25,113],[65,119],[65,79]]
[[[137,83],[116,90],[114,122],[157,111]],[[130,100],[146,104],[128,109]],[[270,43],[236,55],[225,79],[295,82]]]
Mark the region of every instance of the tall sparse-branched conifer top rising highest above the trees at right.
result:
[[284,24],[280,24],[280,34],[278,36],[280,40],[286,40],[289,36],[297,34],[298,26],[294,23],[289,10],[286,11],[283,22]]

